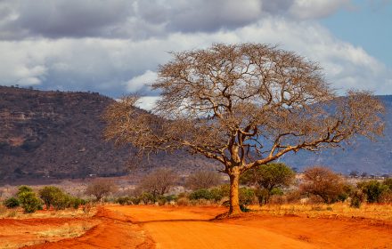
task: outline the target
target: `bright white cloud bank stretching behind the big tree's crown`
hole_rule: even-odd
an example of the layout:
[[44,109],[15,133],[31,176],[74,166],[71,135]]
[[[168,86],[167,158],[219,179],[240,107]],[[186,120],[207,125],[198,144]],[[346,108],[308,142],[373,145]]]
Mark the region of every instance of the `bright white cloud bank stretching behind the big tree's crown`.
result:
[[363,48],[335,38],[316,22],[293,22],[279,17],[268,17],[232,31],[172,33],[141,41],[108,38],[3,41],[0,84],[41,84],[46,89],[90,90],[118,96],[143,90],[143,84],[156,76],[158,65],[170,59],[167,52],[205,48],[218,42],[282,44],[283,49],[319,61],[333,87],[392,92],[390,69]]

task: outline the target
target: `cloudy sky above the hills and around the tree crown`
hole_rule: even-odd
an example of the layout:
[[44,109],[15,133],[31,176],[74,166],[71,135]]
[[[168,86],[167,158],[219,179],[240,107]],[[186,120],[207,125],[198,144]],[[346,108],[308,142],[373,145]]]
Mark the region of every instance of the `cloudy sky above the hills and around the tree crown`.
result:
[[392,0],[1,0],[0,84],[142,92],[168,52],[281,44],[332,87],[392,94]]

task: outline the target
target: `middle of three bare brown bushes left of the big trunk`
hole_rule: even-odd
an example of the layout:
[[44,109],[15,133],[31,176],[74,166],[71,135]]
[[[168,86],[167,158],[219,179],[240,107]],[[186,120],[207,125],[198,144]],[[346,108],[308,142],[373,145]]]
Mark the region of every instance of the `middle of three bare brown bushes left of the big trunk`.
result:
[[140,182],[138,189],[146,191],[156,200],[157,197],[167,194],[176,184],[178,174],[171,169],[159,168],[146,175]]

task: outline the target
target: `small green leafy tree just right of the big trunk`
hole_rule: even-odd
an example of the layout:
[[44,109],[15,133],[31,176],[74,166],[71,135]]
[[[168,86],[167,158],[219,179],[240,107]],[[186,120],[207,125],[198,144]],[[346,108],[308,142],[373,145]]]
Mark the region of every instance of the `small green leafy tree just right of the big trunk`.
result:
[[289,186],[294,178],[295,173],[290,167],[282,163],[272,163],[250,169],[241,175],[240,181],[243,184],[257,187],[259,203],[262,204],[268,203],[275,188]]

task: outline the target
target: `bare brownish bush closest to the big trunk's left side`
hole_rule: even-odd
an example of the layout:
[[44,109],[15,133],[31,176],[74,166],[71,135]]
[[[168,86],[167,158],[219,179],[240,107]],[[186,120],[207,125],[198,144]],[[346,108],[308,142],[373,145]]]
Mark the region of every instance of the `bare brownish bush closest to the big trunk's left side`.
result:
[[188,189],[209,189],[222,183],[220,173],[212,171],[198,171],[188,176],[185,186]]

